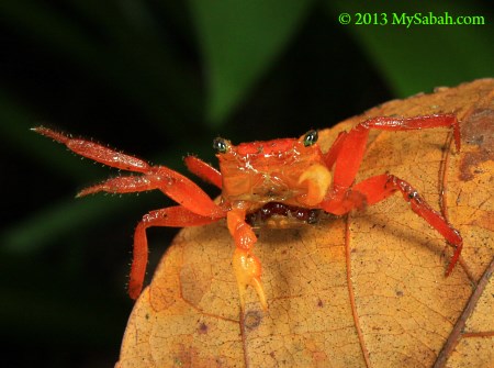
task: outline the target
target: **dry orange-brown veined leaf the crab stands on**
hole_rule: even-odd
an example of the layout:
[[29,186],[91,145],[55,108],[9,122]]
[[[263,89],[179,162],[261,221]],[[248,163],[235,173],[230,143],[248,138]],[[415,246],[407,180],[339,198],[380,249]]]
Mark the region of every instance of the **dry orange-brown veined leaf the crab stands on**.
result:
[[[454,112],[447,129],[372,132],[357,180],[390,171],[460,230],[460,265],[400,194],[349,216],[265,230],[256,254],[269,311],[246,311],[224,221],[181,231],[135,304],[117,367],[489,367],[494,365],[494,79],[391,101],[379,115]],[[441,194],[444,192],[444,194]]]

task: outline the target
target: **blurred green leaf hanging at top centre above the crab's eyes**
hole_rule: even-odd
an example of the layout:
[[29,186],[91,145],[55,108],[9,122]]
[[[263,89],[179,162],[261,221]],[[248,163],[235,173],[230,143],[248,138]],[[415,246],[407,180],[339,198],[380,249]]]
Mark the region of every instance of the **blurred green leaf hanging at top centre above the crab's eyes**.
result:
[[191,0],[207,88],[206,114],[218,126],[251,91],[305,19],[311,0]]

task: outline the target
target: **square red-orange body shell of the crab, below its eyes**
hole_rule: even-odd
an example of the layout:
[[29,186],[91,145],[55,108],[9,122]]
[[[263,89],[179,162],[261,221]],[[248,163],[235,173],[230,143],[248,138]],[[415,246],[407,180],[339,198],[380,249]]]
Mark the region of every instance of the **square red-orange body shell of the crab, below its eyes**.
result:
[[[308,133],[307,133],[308,134]],[[332,183],[317,144],[284,138],[243,143],[228,141],[216,156],[223,178],[223,201],[255,211],[269,202],[318,208]],[[314,133],[315,134],[315,133]]]

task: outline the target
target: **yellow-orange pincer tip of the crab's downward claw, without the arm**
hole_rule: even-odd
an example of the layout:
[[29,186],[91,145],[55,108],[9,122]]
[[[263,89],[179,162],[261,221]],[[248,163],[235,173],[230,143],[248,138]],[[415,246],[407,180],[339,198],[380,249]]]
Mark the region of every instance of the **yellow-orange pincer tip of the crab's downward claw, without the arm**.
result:
[[233,256],[233,267],[237,278],[242,310],[245,310],[244,297],[249,286],[256,290],[262,309],[265,311],[268,310],[268,302],[266,301],[265,290],[260,281],[261,265],[259,259],[246,249],[236,248]]

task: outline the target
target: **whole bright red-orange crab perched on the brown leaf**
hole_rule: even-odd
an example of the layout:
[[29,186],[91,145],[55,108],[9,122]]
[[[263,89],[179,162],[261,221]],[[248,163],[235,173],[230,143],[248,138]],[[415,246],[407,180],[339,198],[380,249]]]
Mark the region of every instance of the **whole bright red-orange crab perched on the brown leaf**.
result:
[[[198,185],[165,166],[151,166],[145,160],[110,149],[100,144],[72,138],[44,126],[33,129],[78,155],[98,163],[141,175],[119,176],[80,191],[77,197],[97,192],[128,193],[158,189],[178,203],[150,211],[138,222],[134,233],[134,250],[128,294],[137,299],[144,283],[148,245],[146,228],[151,226],[200,226],[226,218],[226,226],[235,243],[233,269],[236,276],[240,309],[249,287],[257,292],[261,306],[268,302],[261,283],[261,264],[255,256],[255,226],[274,227],[296,223],[313,223],[324,211],[345,215],[378,203],[400,192],[412,211],[423,218],[450,245],[453,255],[446,268],[449,276],[457,264],[463,242],[460,233],[436,212],[405,180],[391,174],[356,181],[371,130],[409,131],[434,127],[452,129],[457,152],[461,137],[454,114],[414,118],[380,116],[341,132],[323,153],[317,132],[300,138],[281,138],[242,143],[237,146],[224,138],[214,140],[220,170],[195,156],[187,156],[188,169],[222,190],[220,200],[211,199]],[[281,219],[281,220],[280,220]]]

